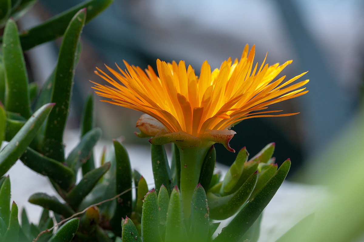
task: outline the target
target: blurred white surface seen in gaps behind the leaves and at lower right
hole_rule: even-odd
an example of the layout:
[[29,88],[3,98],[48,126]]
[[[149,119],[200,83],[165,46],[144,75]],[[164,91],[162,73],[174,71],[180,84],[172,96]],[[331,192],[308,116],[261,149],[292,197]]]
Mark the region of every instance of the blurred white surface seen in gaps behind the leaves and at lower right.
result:
[[[66,153],[76,146],[79,140],[77,132],[66,132],[67,142]],[[95,160],[99,164],[100,154],[103,147],[111,145],[111,142],[100,141],[95,147]],[[4,146],[4,144],[3,144]],[[133,169],[137,169],[146,179],[151,189],[154,184],[151,166],[150,147],[141,145],[126,145]],[[223,175],[227,167],[217,165]],[[12,201],[19,206],[19,215],[23,207],[26,208],[29,220],[37,223],[40,217],[41,208],[30,204],[28,198],[36,192],[44,192],[49,195],[56,195],[47,177],[32,171],[21,161],[8,171],[11,180]],[[286,230],[300,221],[302,218],[312,213],[319,205],[320,198],[326,194],[323,187],[308,186],[284,182],[276,195],[264,210],[261,223],[261,236],[258,242],[274,242]],[[58,196],[59,197],[59,196]],[[227,222],[227,221],[225,221]]]

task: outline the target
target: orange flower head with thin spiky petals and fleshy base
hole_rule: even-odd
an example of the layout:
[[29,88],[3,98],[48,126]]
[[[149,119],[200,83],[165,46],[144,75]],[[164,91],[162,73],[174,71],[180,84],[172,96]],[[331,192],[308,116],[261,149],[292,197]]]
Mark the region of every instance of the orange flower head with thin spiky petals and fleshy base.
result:
[[100,69],[100,73],[95,71],[112,86],[95,83],[94,88],[96,94],[111,99],[104,102],[147,114],[137,122],[141,130],[138,135],[155,137],[151,143],[193,146],[209,141],[222,143],[233,151],[229,140],[235,132],[230,127],[248,118],[297,114],[262,110],[308,92],[299,89],[308,80],[288,86],[305,73],[284,83],[285,76],[274,81],[292,61],[269,66],[264,65],[264,59],[258,69],[258,63],[253,65],[254,53],[254,46],[248,53],[246,45],[240,61],[229,58],[212,72],[205,61],[199,77],[191,66],[186,69],[183,61],[177,64],[157,60],[158,75],[150,66],[143,71],[124,61],[126,70],[117,66],[120,73],[106,66],[117,81]]

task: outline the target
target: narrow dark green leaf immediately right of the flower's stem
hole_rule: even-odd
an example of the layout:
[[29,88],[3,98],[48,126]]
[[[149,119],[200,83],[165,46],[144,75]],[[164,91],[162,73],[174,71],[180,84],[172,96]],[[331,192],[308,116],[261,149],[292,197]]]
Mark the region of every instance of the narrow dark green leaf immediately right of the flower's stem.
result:
[[[206,190],[209,189],[211,179],[214,173],[216,161],[216,150],[214,145],[211,145],[209,151],[207,151],[205,160],[203,160],[200,177],[198,179],[198,183]],[[181,165],[179,165],[181,169]]]

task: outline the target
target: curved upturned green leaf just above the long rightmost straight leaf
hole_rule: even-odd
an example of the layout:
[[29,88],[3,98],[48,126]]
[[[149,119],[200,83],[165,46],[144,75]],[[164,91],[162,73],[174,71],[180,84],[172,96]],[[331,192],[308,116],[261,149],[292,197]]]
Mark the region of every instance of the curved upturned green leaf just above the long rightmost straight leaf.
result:
[[233,194],[220,197],[208,192],[206,196],[209,201],[210,218],[213,220],[224,220],[233,216],[248,201],[257,180],[258,172],[254,172],[241,188]]

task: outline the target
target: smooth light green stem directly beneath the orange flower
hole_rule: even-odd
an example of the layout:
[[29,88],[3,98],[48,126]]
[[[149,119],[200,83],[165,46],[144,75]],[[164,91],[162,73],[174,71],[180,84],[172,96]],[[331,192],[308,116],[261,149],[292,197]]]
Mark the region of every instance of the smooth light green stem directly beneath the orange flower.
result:
[[212,144],[209,142],[195,147],[178,146],[181,157],[181,197],[186,219],[191,214],[192,195],[198,184],[203,160]]

